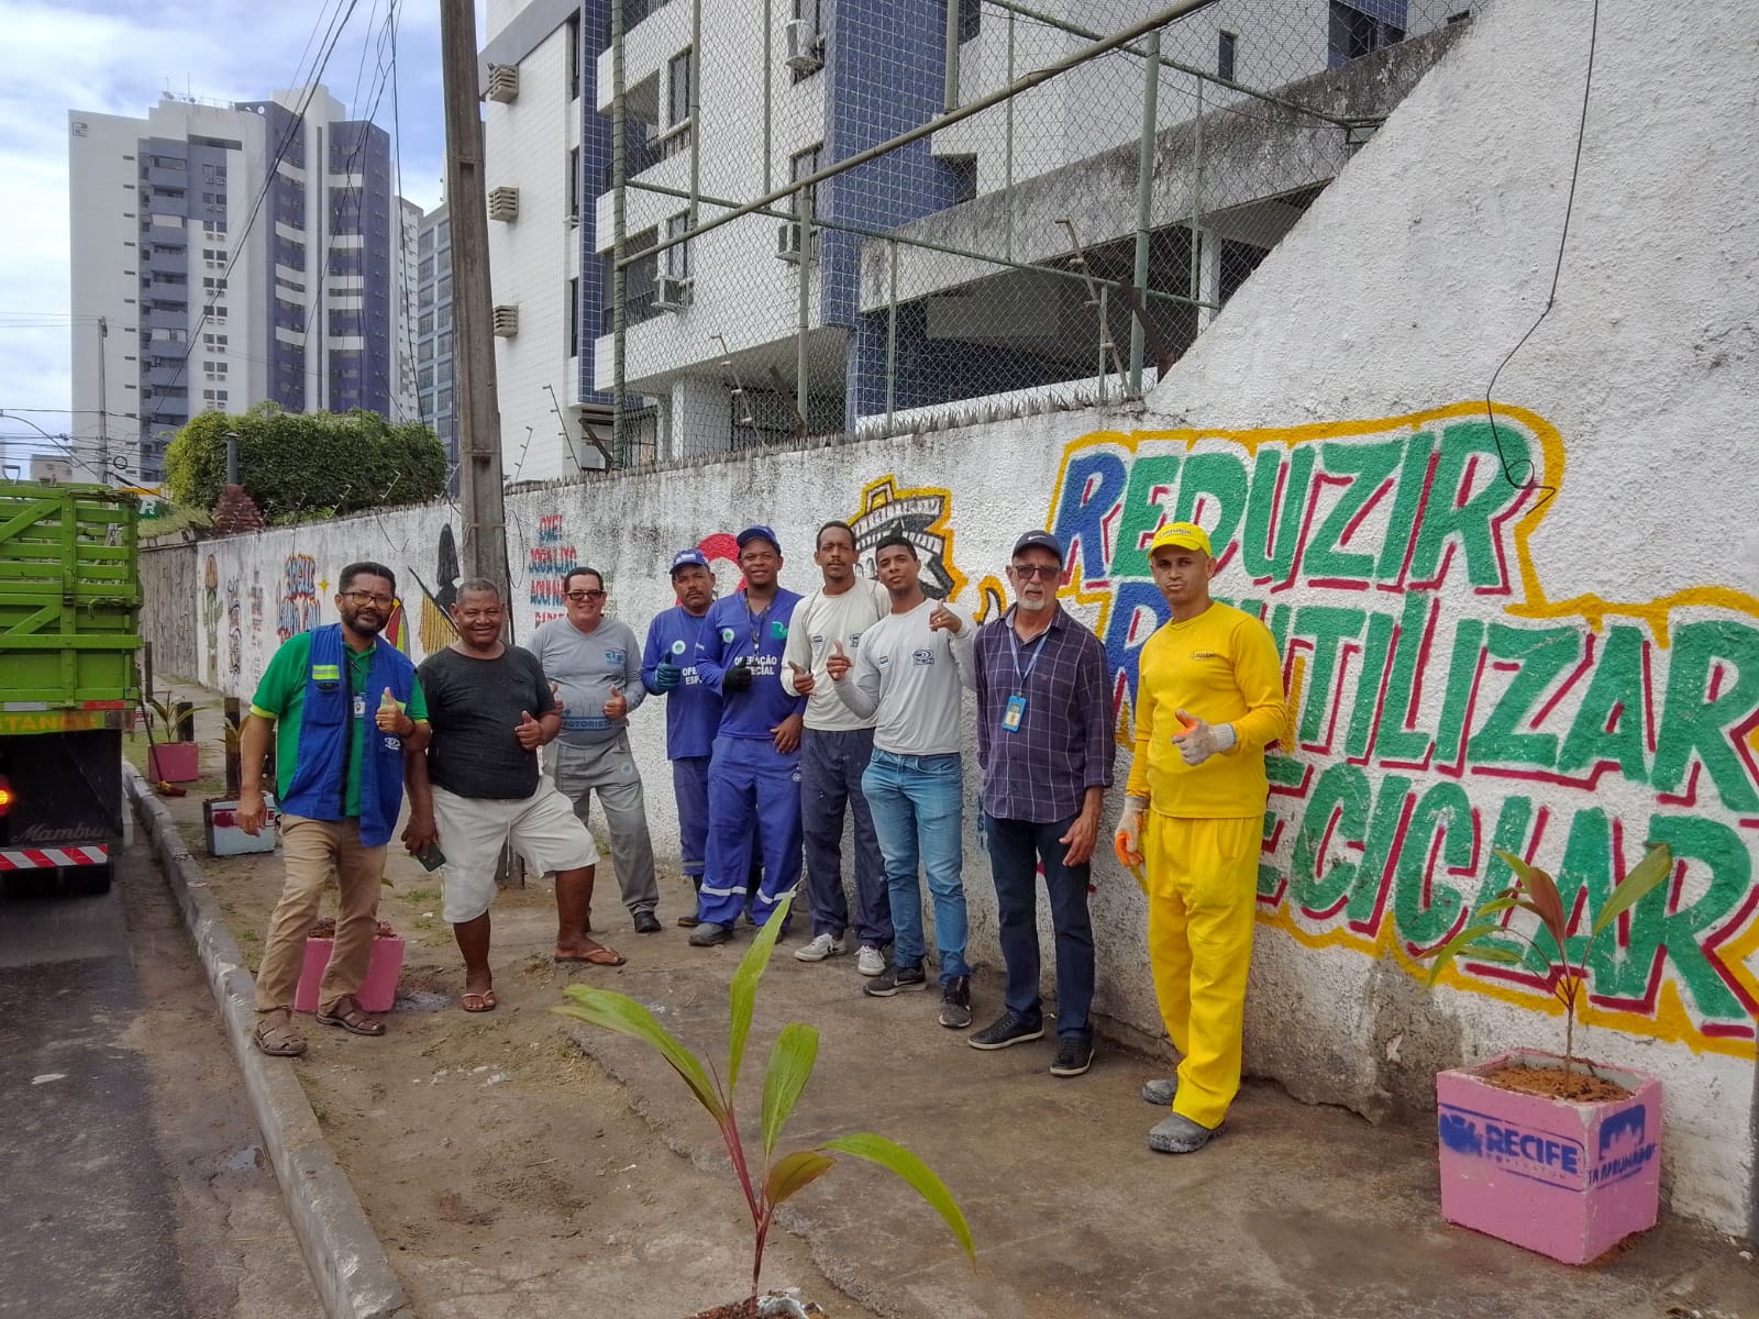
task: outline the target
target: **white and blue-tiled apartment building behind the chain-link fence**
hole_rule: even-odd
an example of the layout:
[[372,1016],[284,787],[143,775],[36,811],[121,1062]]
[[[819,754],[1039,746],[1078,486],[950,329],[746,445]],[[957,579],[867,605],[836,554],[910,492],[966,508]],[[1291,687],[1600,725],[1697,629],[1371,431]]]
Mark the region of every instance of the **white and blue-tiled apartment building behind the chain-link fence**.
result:
[[[1022,16],[997,0],[624,0],[626,251],[686,232],[691,188],[755,199],[936,118],[948,4],[960,104],[1082,49],[1084,25],[1103,23],[1108,35],[1159,9],[1120,0],[1099,16],[1082,0],[1036,0]],[[1231,155],[1208,146],[1231,172],[1205,181],[1180,146],[1198,106],[1242,102],[1226,83],[1332,79],[1303,95],[1374,118],[1370,102],[1402,93],[1388,91],[1397,79],[1351,77],[1347,65],[1467,11],[1469,0],[1219,0],[1168,26],[1149,287],[1226,302],[1354,146],[1332,123],[1291,132],[1263,104],[1240,107]],[[598,461],[572,424],[558,426],[544,387],[572,422],[609,401],[614,382],[609,12],[609,0],[489,5],[482,77],[503,457],[526,478]],[[1136,55],[1101,56],[828,179],[809,199],[823,225],[811,241],[797,222],[753,215],[628,267],[623,378],[647,399],[630,427],[642,450],[677,457],[788,438],[800,394],[807,429],[823,433],[1091,383],[1101,345],[1128,345],[1126,299],[1096,317],[1078,281],[1022,267],[1068,260],[1068,216],[1092,269],[1131,280],[1142,69]],[[700,206],[702,218],[716,213]],[[883,237],[851,230],[920,244],[897,243],[894,259]],[[1003,260],[952,255],[960,250]],[[1152,304],[1175,353],[1208,315]]]

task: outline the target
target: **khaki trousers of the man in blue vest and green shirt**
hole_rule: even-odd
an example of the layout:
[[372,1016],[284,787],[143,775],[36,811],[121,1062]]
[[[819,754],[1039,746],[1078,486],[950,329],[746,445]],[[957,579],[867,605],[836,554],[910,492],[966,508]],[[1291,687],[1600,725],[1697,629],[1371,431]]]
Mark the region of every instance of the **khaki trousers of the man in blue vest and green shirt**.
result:
[[336,946],[318,983],[318,1008],[359,994],[373,960],[378,922],[378,886],[385,874],[385,846],[361,846],[359,820],[308,820],[281,816],[281,860],[287,879],[281,900],[269,916],[269,939],[257,971],[257,1011],[292,1008],[299,973],[306,960],[306,934],[318,918],[318,906],[331,879],[341,900],[336,915]]

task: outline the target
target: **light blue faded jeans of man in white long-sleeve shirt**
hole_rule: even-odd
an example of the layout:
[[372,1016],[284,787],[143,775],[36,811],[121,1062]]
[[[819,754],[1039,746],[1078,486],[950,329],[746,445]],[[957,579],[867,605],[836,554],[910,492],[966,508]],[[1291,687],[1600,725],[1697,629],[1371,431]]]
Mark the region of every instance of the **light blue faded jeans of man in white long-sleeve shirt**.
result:
[[887,893],[892,899],[892,960],[922,966],[922,893],[916,864],[934,899],[934,943],[941,951],[941,983],[969,976],[966,962],[966,888],[962,864],[964,779],[959,754],[895,756],[874,747],[862,791],[880,835]]

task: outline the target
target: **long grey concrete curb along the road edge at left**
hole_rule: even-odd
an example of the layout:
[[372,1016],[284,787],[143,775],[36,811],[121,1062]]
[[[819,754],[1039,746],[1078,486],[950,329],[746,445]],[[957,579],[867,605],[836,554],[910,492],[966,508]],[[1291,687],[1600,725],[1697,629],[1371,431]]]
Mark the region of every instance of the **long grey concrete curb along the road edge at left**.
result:
[[255,983],[227,930],[220,904],[208,890],[201,865],[178,835],[171,811],[153,797],[146,779],[132,765],[123,765],[123,784],[153,841],[153,855],[165,871],[172,897],[183,911],[183,923],[195,939],[232,1057],[245,1076],[262,1145],[281,1184],[294,1235],[318,1296],[324,1298],[324,1314],[327,1319],[415,1319],[348,1175],[324,1140],[299,1076],[292,1068],[271,1066],[271,1059],[252,1043],[257,1024]]

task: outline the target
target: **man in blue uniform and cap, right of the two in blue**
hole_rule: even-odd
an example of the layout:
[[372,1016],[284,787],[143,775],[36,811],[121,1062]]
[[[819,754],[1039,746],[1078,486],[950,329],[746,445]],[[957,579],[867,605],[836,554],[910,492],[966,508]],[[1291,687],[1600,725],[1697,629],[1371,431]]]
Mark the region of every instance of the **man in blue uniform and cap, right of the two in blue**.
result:
[[[721,696],[709,762],[709,844],[698,892],[698,948],[734,937],[744,906],[753,835],[763,885],[751,918],[763,925],[800,881],[800,721],[806,696],[783,688],[788,624],[800,596],[777,584],[781,545],[767,526],[737,536],[746,589],[709,607],[697,675]],[[762,828],[758,821],[762,820]]]

